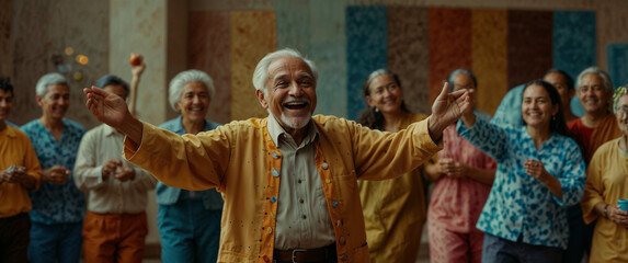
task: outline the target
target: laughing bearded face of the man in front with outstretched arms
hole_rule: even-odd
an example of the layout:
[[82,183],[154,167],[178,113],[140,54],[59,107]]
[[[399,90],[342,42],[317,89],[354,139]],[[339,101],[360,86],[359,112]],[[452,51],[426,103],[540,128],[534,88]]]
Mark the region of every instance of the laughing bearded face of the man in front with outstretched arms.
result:
[[269,65],[266,92],[256,91],[258,100],[293,134],[305,127],[316,108],[316,80],[305,61],[281,57]]

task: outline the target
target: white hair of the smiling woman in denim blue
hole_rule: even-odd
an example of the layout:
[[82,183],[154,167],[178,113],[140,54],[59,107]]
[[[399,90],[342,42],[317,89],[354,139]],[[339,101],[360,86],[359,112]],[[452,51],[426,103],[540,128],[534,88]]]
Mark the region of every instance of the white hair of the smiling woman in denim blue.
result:
[[209,101],[212,101],[214,94],[216,93],[216,89],[214,88],[214,81],[212,80],[212,78],[207,73],[201,70],[190,69],[178,73],[170,81],[170,85],[168,88],[168,101],[170,102],[170,106],[172,107],[172,110],[179,112],[175,105],[181,100],[181,91],[183,90],[183,87],[190,82],[196,82],[196,81],[205,85],[205,89],[207,89],[207,93],[209,93]]

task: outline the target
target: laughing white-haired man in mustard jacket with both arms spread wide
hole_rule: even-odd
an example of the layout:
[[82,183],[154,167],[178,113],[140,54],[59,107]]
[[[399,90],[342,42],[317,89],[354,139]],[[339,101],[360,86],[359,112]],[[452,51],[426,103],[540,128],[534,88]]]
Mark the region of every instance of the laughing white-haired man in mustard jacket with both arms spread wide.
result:
[[[124,156],[167,185],[216,187],[225,208],[218,262],[368,262],[357,179],[419,167],[443,129],[471,108],[443,87],[426,121],[396,134],[311,116],[318,71],[293,49],[266,55],[253,73],[266,118],[178,136],[133,117],[123,100],[85,89],[87,106],[126,135]],[[416,237],[419,238],[419,237]]]

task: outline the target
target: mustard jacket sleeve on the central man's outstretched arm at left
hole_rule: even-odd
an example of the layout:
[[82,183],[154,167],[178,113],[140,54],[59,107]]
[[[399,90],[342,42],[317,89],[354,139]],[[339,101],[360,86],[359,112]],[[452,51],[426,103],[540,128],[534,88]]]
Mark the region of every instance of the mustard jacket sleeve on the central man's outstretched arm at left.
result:
[[172,187],[201,191],[219,187],[230,159],[226,126],[179,136],[144,123],[139,146],[125,138],[123,156]]

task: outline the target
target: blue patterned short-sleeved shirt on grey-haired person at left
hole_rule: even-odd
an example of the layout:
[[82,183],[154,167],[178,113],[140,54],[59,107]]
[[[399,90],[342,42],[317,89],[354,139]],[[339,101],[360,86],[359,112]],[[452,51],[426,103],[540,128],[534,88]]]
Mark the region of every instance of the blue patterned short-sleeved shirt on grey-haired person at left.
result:
[[70,176],[65,184],[42,183],[38,191],[28,193],[33,202],[31,220],[39,224],[80,222],[85,215],[85,198],[75,185],[71,172],[75,169],[77,151],[85,128],[66,118],[62,122],[64,132],[60,141],[55,139],[50,132],[39,123],[39,119],[34,119],[21,127],[35,148],[42,170],[54,165],[70,170]]

